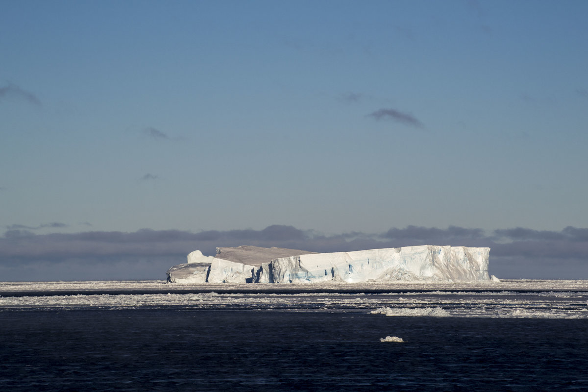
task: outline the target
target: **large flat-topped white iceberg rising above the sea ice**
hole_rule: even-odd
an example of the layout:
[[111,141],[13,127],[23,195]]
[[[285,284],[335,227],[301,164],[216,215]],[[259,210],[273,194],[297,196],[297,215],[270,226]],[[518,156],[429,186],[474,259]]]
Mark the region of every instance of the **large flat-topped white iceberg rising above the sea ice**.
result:
[[404,246],[313,253],[257,246],[199,250],[168,270],[171,283],[326,283],[490,280],[490,248]]

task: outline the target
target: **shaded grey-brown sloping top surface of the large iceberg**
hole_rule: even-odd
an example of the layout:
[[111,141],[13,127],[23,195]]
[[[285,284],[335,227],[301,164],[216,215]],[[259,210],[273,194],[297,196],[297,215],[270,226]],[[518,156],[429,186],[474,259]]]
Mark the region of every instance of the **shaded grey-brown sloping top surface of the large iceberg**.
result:
[[313,254],[308,250],[286,249],[279,247],[260,247],[252,245],[241,245],[236,247],[217,247],[216,257],[229,262],[243,263],[259,267],[262,263],[269,263],[280,257],[300,256],[300,254]]

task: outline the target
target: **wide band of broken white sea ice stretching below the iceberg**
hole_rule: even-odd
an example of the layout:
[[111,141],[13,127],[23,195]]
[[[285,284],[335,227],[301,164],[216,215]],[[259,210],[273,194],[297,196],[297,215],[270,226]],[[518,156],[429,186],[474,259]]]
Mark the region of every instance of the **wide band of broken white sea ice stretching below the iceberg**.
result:
[[[186,309],[341,310],[365,313],[372,310],[374,317],[390,314],[588,320],[587,300],[588,280],[399,282],[393,286],[378,282],[308,285],[177,285],[163,280],[0,282],[0,311],[31,307],[122,309],[180,306]],[[375,339],[377,341],[379,337]]]

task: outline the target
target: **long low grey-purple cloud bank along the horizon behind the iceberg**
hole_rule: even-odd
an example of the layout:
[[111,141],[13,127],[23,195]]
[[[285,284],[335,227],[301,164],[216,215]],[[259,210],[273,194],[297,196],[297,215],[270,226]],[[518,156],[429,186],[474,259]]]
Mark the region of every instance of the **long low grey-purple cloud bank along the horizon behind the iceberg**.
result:
[[490,273],[501,278],[588,279],[588,229],[577,227],[559,232],[517,227],[485,233],[457,226],[407,226],[385,233],[329,236],[284,225],[199,233],[142,229],[35,234],[30,229],[11,227],[0,237],[0,280],[164,279],[166,270],[185,262],[192,250],[213,255],[216,246],[244,244],[314,252],[422,244],[488,246]]

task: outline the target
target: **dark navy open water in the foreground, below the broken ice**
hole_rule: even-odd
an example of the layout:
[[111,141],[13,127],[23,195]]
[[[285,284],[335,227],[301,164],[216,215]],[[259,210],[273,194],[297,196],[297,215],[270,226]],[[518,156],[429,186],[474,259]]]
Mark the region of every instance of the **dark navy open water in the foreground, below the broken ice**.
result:
[[0,390],[587,391],[588,320],[5,310]]

